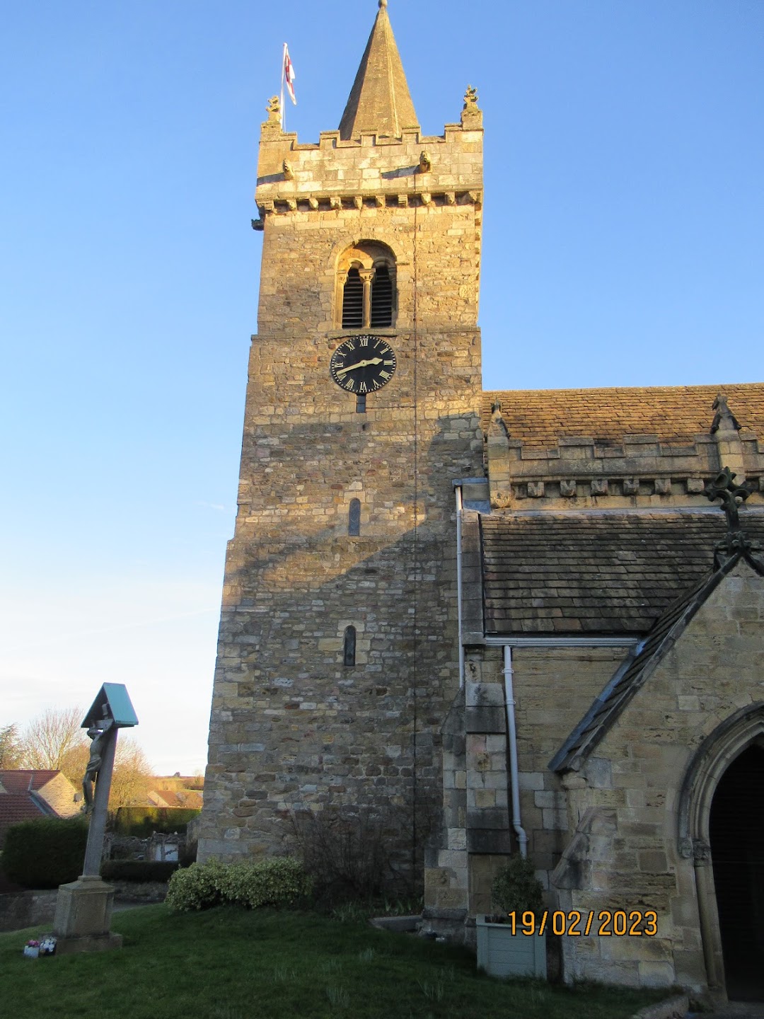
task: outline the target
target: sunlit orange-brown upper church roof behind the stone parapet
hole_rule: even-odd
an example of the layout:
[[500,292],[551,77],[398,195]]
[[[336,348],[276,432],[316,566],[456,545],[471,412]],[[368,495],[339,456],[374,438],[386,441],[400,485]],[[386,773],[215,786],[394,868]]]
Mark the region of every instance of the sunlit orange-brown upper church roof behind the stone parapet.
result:
[[488,431],[492,406],[498,400],[509,438],[527,445],[556,446],[561,438],[580,437],[620,444],[624,435],[655,435],[666,444],[689,445],[696,435],[711,431],[712,404],[720,392],[741,427],[764,436],[764,383],[760,382],[490,390],[483,393],[483,431]]

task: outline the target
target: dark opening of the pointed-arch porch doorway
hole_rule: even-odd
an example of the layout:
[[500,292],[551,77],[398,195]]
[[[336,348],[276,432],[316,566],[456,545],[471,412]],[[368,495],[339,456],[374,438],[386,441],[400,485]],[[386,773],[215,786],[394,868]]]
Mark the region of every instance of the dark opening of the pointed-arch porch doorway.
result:
[[764,740],[719,779],[709,840],[727,997],[764,1001]]

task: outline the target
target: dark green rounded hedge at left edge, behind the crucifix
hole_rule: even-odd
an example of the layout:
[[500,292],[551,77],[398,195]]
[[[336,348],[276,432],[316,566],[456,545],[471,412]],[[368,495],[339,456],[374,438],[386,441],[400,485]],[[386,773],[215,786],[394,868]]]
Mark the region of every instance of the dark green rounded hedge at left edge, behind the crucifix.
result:
[[88,822],[41,817],[11,824],[3,846],[3,870],[28,889],[55,889],[83,872]]

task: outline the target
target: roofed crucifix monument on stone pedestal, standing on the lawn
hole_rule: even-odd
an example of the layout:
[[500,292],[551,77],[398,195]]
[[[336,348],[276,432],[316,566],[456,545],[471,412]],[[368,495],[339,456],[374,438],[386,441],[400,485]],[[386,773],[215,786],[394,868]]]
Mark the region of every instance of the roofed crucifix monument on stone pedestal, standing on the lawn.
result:
[[121,934],[109,929],[114,889],[101,880],[100,871],[117,733],[137,725],[125,687],[104,683],[83,720],[83,729],[93,741],[83,779],[84,811],[90,815],[90,827],[83,873],[58,890],[54,934],[59,953],[99,952],[122,944]]

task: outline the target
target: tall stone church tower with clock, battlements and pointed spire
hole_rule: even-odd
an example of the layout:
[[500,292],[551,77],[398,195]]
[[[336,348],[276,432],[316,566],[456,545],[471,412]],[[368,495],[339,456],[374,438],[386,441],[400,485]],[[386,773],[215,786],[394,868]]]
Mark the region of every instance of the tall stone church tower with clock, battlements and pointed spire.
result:
[[422,136],[387,0],[338,130],[299,143],[269,104],[201,859],[334,809],[422,865],[459,686],[452,482],[483,474],[482,142],[472,88]]

